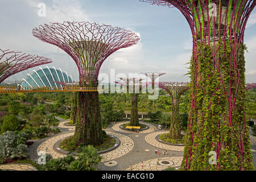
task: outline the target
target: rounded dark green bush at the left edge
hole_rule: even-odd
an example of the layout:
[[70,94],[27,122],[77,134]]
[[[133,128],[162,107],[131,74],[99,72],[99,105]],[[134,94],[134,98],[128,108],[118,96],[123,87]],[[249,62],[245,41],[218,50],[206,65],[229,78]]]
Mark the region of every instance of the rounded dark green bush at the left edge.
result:
[[19,120],[13,114],[6,115],[1,126],[1,133],[15,131],[20,128]]

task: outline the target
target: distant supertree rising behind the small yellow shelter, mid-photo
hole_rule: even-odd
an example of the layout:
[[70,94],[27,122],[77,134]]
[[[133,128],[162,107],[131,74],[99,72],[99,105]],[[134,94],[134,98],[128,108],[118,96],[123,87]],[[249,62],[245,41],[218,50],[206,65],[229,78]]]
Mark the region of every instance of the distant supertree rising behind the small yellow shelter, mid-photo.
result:
[[116,84],[122,85],[127,93],[131,93],[131,119],[130,126],[139,126],[138,116],[138,96],[139,92],[152,82],[143,82],[142,78],[119,78],[120,81],[115,81]]

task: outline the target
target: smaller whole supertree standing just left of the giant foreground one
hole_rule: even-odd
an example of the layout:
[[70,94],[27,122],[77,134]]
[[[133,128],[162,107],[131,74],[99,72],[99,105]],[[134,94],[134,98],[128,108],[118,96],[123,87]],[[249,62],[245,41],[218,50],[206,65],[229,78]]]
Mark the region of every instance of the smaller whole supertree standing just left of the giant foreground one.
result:
[[187,82],[156,82],[158,86],[168,92],[172,98],[170,138],[180,139],[180,96],[189,89]]

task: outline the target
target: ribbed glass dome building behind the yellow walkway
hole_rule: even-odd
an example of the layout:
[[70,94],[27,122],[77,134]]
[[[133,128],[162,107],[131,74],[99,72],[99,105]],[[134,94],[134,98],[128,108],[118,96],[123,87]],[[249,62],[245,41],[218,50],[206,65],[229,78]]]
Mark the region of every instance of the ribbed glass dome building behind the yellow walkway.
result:
[[38,86],[47,86],[47,87],[61,87],[59,82],[73,82],[72,76],[67,72],[61,71],[61,69],[56,69],[55,67],[42,69],[41,67],[38,71],[33,70],[32,75],[27,74],[26,79],[22,79],[22,87],[38,87]]

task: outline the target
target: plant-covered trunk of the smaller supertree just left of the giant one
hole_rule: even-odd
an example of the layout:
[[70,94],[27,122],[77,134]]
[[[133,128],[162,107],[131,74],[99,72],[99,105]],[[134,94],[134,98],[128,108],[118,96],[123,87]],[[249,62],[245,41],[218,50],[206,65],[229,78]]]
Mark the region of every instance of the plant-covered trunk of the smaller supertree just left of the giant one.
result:
[[181,128],[180,128],[180,105],[179,100],[172,101],[172,113],[171,113],[171,125],[170,125],[170,138],[180,139]]

